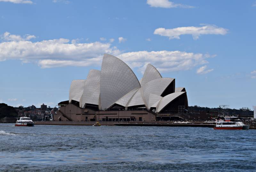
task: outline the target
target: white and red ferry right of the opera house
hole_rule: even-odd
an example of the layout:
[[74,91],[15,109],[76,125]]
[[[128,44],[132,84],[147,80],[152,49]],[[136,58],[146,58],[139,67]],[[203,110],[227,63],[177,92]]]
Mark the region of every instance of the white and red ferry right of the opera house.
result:
[[249,129],[249,125],[238,119],[236,116],[225,116],[224,120],[217,120],[214,129]]

